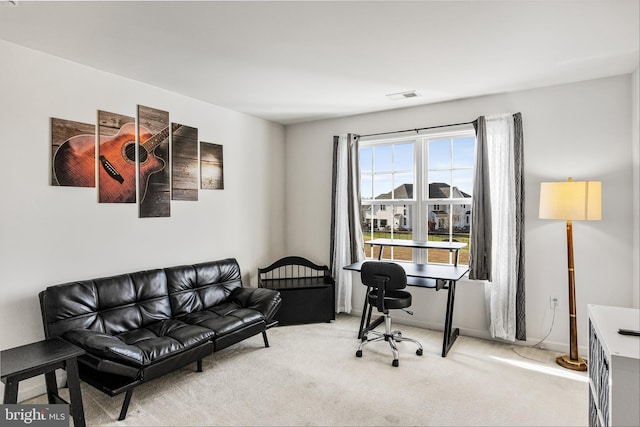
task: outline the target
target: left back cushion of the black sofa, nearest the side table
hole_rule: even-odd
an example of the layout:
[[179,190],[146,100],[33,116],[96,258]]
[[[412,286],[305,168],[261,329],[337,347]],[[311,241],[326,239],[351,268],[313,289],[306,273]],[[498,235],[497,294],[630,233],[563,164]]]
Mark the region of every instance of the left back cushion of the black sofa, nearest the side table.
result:
[[47,338],[73,329],[116,335],[171,318],[160,269],[50,286],[40,304]]

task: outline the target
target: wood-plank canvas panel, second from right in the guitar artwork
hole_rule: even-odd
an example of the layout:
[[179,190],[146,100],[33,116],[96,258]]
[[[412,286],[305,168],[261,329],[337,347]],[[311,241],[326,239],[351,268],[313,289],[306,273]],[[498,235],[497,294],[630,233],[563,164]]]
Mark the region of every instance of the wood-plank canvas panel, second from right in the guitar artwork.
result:
[[[173,124],[172,127],[176,126]],[[171,137],[171,199],[198,200],[198,129],[178,125]]]

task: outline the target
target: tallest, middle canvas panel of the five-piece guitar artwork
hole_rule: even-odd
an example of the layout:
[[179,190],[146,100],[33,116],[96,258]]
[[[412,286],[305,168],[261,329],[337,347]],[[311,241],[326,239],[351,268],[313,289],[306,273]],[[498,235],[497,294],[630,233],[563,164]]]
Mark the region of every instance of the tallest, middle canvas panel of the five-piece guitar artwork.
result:
[[171,216],[169,113],[138,106],[140,218]]

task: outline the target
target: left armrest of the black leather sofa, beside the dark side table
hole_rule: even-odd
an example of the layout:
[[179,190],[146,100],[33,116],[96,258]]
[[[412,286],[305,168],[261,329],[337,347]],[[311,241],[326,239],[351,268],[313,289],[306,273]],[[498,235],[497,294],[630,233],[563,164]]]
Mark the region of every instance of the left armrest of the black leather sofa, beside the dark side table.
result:
[[113,335],[88,329],[74,329],[65,332],[62,338],[98,358],[138,367],[148,362],[140,348],[126,344]]

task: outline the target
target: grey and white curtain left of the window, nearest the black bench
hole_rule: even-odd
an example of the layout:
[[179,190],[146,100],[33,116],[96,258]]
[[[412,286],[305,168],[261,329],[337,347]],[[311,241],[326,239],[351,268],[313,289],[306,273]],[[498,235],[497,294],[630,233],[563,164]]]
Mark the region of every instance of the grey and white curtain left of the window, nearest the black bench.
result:
[[358,137],[333,137],[331,194],[331,272],[336,282],[336,312],[351,312],[351,272],[344,266],[364,259],[360,223]]

